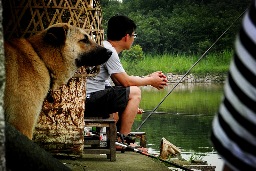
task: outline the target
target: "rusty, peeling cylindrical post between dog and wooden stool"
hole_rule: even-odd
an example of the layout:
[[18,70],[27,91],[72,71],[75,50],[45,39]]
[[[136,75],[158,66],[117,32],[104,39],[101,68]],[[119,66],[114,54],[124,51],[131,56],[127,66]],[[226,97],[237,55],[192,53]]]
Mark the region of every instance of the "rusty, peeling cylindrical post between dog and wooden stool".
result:
[[40,113],[33,140],[52,155],[81,157],[84,148],[86,78],[71,79],[52,95]]

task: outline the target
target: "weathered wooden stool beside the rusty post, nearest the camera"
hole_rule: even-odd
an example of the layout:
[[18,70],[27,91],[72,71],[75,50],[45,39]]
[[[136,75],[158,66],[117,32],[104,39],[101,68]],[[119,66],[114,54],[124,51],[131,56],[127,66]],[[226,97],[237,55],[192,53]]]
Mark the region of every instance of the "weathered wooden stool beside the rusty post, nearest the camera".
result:
[[85,127],[107,128],[107,146],[100,147],[100,140],[84,136],[84,154],[107,154],[107,159],[116,161],[116,125],[114,119],[84,119]]

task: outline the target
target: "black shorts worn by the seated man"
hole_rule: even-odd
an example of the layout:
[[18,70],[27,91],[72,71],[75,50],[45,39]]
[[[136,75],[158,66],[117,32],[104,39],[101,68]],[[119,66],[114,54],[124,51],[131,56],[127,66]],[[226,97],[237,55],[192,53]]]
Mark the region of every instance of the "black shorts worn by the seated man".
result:
[[85,99],[84,117],[102,116],[109,118],[109,114],[123,112],[127,106],[130,87],[113,86],[94,92]]

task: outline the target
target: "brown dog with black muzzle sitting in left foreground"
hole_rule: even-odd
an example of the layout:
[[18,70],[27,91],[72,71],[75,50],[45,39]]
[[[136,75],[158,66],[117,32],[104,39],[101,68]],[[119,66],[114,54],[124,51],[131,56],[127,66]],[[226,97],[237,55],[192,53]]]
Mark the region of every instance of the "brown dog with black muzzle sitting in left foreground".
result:
[[5,119],[29,139],[49,90],[66,84],[81,66],[97,66],[112,52],[66,23],[28,39],[5,42]]

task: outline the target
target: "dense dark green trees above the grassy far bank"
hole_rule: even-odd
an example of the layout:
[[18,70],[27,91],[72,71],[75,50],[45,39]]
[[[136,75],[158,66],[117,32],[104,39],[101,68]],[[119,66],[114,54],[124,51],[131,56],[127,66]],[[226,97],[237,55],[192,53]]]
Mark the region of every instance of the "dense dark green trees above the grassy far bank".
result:
[[[244,12],[252,0],[100,0],[105,39],[108,19],[128,15],[137,24],[139,44],[144,53],[203,53]],[[211,51],[231,49],[240,25],[234,26]]]

